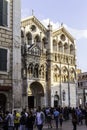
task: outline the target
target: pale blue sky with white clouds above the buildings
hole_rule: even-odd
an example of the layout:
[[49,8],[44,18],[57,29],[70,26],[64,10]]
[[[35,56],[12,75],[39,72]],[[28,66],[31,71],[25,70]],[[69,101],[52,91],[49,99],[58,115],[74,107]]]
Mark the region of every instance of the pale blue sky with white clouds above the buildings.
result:
[[87,72],[87,0],[21,0],[21,19],[33,14],[53,28],[61,23],[75,38],[77,68]]

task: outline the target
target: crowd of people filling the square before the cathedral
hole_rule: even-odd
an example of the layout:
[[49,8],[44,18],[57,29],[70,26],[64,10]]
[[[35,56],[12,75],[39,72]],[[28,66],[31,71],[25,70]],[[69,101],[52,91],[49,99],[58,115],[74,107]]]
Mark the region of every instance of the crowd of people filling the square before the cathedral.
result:
[[[87,107],[82,109],[81,106],[76,108],[70,107],[44,107],[24,109],[22,112],[6,111],[4,115],[0,114],[0,129],[3,130],[42,130],[44,125],[49,128],[62,128],[63,121],[72,121],[73,130],[77,130],[77,125],[83,125],[83,120],[87,126]],[[53,123],[54,122],[54,123]],[[55,126],[54,126],[55,125]]]

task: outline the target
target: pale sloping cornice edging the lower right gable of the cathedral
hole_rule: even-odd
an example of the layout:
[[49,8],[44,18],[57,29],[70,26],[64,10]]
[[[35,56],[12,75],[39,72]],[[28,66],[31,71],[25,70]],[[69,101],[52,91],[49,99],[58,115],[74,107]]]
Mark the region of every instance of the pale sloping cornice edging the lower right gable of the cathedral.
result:
[[75,38],[65,29],[64,26],[61,26],[59,29],[53,32],[53,37],[59,34],[64,33],[71,41],[74,41]]

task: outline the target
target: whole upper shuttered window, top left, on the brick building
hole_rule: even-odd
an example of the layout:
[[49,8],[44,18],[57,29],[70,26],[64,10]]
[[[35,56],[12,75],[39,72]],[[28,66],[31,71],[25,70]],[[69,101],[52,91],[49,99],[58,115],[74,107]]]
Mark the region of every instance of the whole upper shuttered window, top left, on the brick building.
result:
[[0,26],[7,26],[8,24],[8,2],[0,0]]

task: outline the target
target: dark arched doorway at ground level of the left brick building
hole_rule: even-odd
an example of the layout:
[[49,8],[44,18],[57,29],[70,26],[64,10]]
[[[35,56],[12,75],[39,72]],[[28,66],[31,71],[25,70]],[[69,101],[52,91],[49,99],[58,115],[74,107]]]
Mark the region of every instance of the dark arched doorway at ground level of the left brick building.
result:
[[0,112],[5,112],[6,109],[6,96],[0,93]]

